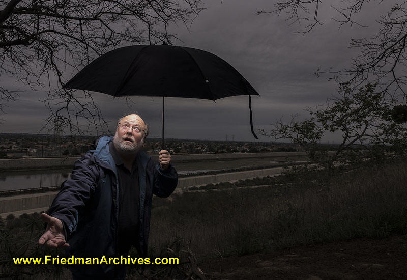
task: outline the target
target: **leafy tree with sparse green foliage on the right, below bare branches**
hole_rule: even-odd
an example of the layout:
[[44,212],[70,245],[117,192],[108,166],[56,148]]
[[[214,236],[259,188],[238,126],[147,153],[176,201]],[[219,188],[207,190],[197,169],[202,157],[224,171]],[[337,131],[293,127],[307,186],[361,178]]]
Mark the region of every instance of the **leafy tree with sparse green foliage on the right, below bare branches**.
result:
[[[308,108],[311,118],[288,124],[279,121],[271,131],[260,133],[274,139],[290,139],[308,153],[314,163],[332,170],[338,162],[352,163],[382,159],[389,152],[405,156],[407,128],[392,117],[396,99],[389,99],[368,83],[353,90],[340,85],[338,95],[315,109]],[[340,133],[342,141],[333,154],[321,146],[328,133]]]

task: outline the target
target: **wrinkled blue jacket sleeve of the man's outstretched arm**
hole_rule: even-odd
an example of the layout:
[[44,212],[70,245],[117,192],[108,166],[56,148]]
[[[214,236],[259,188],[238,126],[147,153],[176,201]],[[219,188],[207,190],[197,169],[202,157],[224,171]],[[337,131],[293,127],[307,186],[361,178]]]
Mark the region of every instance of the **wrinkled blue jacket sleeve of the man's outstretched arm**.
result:
[[88,153],[75,162],[71,179],[62,183],[54,198],[48,214],[62,221],[67,240],[76,230],[80,211],[95,192],[99,178],[95,157]]

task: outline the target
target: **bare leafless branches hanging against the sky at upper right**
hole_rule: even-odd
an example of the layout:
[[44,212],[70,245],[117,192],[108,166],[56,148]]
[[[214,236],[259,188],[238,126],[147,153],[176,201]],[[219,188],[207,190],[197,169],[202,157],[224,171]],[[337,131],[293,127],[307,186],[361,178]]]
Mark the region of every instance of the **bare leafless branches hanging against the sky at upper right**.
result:
[[[259,11],[257,14],[276,13],[286,15],[289,24],[299,23],[299,33],[311,32],[320,21],[319,11],[322,5],[331,7],[337,12],[336,18],[340,26],[343,24],[358,24],[358,12],[367,9],[371,0],[349,0],[349,1],[326,1],[326,0],[286,0],[275,4],[274,9]],[[388,95],[390,100],[398,98],[398,105],[405,105],[407,98],[407,64],[406,39],[407,39],[407,2],[389,4],[387,1],[377,1],[382,6],[383,15],[377,18],[380,30],[376,34],[366,34],[365,38],[352,39],[350,47],[359,48],[360,55],[353,59],[352,65],[344,70],[321,71],[318,69],[316,75],[321,73],[334,73],[331,79],[338,83],[346,82],[347,87],[352,90],[366,85],[366,83],[377,83],[377,91]],[[389,7],[387,9],[387,7]],[[305,23],[305,24],[304,24]],[[302,29],[301,29],[302,28]],[[385,100],[387,101],[387,100]],[[407,110],[403,111],[407,113]]]

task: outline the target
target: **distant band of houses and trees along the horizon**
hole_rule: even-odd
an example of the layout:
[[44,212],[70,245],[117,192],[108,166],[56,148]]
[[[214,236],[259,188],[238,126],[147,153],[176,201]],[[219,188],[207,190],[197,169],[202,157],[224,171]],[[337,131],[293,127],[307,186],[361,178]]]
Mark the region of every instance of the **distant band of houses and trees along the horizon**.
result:
[[[66,157],[80,156],[89,150],[96,136],[60,136],[56,142],[52,135],[0,133],[0,158]],[[258,153],[300,151],[293,143],[211,141],[196,139],[165,139],[165,149],[171,154]],[[144,150],[158,154],[162,140],[147,138]]]

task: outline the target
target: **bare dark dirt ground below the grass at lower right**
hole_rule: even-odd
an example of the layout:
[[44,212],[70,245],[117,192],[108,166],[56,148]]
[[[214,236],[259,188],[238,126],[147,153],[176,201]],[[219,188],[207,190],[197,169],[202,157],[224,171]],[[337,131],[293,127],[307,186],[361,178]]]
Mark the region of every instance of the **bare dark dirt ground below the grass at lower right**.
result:
[[221,279],[407,279],[407,236],[354,239],[232,256],[199,266]]

